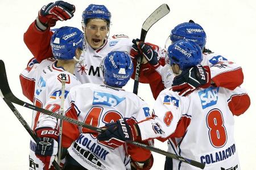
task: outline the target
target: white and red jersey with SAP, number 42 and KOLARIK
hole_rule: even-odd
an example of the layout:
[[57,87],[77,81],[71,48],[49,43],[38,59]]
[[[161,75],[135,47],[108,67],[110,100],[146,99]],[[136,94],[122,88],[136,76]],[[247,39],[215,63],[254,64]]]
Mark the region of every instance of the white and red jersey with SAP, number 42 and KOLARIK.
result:
[[[150,117],[146,102],[132,92],[106,85],[85,83],[72,88],[65,100],[65,115],[96,127],[124,117],[141,121]],[[130,169],[133,160],[146,160],[150,151],[134,146],[115,148],[100,142],[95,132],[63,122],[63,145],[86,169]]]

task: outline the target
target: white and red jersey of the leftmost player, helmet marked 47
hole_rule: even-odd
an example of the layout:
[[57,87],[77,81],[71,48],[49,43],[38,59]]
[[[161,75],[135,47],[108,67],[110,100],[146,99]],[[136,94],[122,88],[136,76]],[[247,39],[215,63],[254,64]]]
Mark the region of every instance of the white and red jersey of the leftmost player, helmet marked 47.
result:
[[[40,64],[28,66],[20,74],[23,94],[33,101],[34,105],[52,112],[60,109],[61,76],[65,76],[66,97],[71,87],[81,84],[75,75],[56,66],[55,59],[45,59]],[[57,128],[57,120],[46,114],[33,111],[32,130],[39,127]],[[44,164],[35,156],[35,141],[30,141],[30,168],[43,169]]]

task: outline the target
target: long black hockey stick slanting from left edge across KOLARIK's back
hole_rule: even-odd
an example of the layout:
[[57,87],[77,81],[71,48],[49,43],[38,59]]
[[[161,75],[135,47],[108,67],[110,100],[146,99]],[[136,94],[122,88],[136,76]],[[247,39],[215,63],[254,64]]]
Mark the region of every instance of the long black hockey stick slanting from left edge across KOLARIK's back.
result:
[[[11,103],[22,105],[23,107],[30,108],[34,111],[42,112],[42,113],[47,114],[49,116],[59,118],[61,120],[67,121],[71,124],[75,124],[77,126],[82,126],[84,128],[88,128],[90,130],[97,131],[99,133],[104,131],[100,128],[85,124],[84,122],[80,122],[80,121],[77,121],[73,118],[63,116],[59,113],[53,113],[51,111],[48,111],[48,110],[43,109],[43,108],[36,107],[35,105],[26,103],[25,101],[22,101],[22,100],[18,99],[16,96],[14,96],[13,92],[11,92],[11,90],[10,90],[8,80],[7,80],[6,70],[5,70],[5,63],[3,63],[3,61],[1,59],[0,59],[0,80],[1,80],[0,90],[2,92],[2,95],[3,95],[3,97],[5,97],[5,99],[9,100]],[[195,167],[198,167],[198,168],[201,168],[201,169],[204,169],[204,166],[205,166],[204,164],[202,164],[200,162],[196,162],[195,160],[190,160],[190,159],[187,159],[187,158],[183,158],[182,156],[175,155],[175,154],[172,154],[170,152],[160,150],[159,148],[155,148],[153,146],[145,145],[143,143],[139,143],[139,142],[135,142],[135,141],[128,141],[127,143],[131,143],[132,145],[136,145],[136,146],[145,148],[147,150],[157,152],[158,154],[168,156],[169,158],[180,160],[181,162],[191,164],[191,165],[193,165]]]

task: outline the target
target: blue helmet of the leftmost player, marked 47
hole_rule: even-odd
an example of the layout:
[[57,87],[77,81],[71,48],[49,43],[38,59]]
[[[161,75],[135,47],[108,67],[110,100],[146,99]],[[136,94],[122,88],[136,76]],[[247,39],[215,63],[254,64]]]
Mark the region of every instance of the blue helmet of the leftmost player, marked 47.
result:
[[76,49],[83,49],[84,33],[78,28],[61,27],[51,38],[52,53],[56,59],[73,59]]

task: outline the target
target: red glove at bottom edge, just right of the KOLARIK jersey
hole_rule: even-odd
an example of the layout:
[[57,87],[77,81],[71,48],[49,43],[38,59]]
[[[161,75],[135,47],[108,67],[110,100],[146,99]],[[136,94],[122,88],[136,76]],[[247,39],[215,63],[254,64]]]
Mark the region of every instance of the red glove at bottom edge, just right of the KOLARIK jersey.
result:
[[154,163],[153,155],[151,154],[150,158],[143,162],[136,162],[131,159],[131,170],[149,170],[152,168]]

